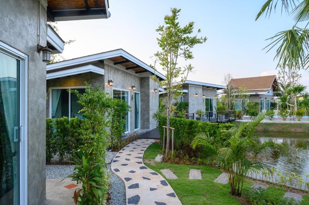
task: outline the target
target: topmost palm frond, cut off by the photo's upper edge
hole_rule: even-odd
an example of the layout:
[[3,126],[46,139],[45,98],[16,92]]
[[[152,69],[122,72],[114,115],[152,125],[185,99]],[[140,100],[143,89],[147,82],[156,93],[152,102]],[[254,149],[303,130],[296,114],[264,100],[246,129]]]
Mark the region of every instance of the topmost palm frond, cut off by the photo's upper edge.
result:
[[[261,15],[265,14],[265,17],[270,16],[271,11],[276,11],[279,0],[267,0],[265,4],[263,4],[261,10],[256,15],[255,20],[260,18]],[[294,0],[281,0],[281,14],[282,11],[285,10],[286,14],[289,13],[289,10],[296,7]]]

